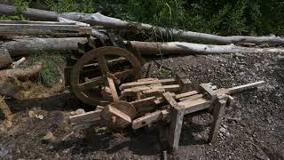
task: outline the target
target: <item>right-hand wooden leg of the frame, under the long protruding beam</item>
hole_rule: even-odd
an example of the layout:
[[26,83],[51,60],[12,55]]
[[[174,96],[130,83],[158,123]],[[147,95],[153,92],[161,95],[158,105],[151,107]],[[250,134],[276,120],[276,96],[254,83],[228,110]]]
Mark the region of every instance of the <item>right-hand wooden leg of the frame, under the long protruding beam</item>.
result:
[[217,134],[220,128],[222,117],[224,115],[227,99],[228,98],[226,96],[221,96],[221,97],[217,97],[215,101],[214,110],[213,110],[214,120],[212,124],[212,129],[209,133],[209,141],[211,143],[214,143],[217,140]]

